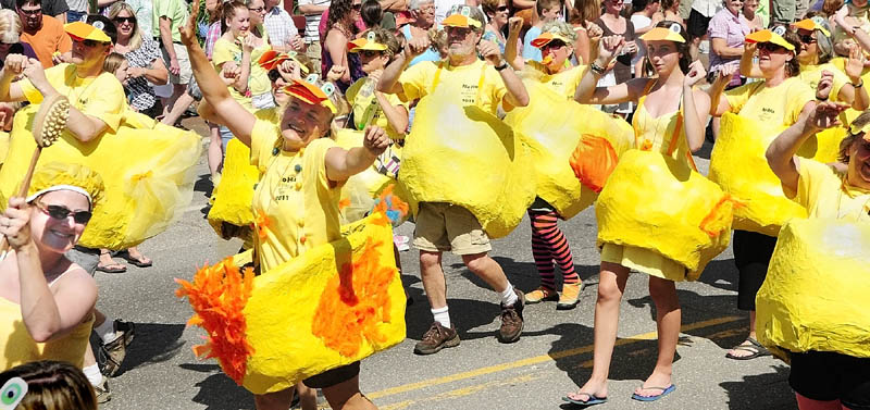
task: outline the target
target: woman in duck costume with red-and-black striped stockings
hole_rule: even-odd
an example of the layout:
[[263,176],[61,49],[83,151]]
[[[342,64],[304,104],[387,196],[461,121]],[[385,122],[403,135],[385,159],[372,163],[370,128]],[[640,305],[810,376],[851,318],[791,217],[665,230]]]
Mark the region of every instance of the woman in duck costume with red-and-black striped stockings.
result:
[[[621,119],[610,117],[573,100],[587,66],[570,65],[571,45],[576,41],[571,26],[562,22],[544,25],[543,34],[532,40],[532,46],[539,48],[544,55],[544,62],[539,63],[524,61],[518,55],[517,44],[523,20],[511,17],[508,24],[505,58],[523,77],[533,101],[527,107],[511,110],[505,117],[505,122],[532,148],[535,159],[537,198],[529,208],[529,219],[532,256],[540,275],[540,285],[525,294],[525,301],[557,300],[556,309],[573,309],[580,301],[583,282],[574,270],[571,247],[557,221],[576,215],[592,204],[598,192],[575,177],[569,159],[584,135],[621,137],[624,150],[632,145],[633,133]],[[619,144],[613,145],[619,149]],[[594,153],[584,152],[584,156]],[[561,294],[556,291],[555,264],[562,273]]]

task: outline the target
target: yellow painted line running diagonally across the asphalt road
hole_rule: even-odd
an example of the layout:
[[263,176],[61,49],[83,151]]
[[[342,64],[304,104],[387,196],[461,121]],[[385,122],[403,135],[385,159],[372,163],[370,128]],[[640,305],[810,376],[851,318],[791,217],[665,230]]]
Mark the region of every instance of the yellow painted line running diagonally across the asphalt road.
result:
[[[689,323],[689,324],[683,325],[680,328],[680,331],[681,332],[688,332],[688,331],[694,331],[694,330],[697,330],[697,328],[716,326],[716,325],[720,325],[720,324],[723,324],[723,323],[736,322],[736,321],[742,320],[742,319],[744,319],[744,318],[724,316],[724,318],[710,319],[710,320],[707,320],[707,321],[695,322],[695,323]],[[643,340],[655,340],[656,337],[657,337],[657,333],[656,332],[642,333],[639,335],[634,335],[634,336],[629,336],[629,337],[625,337],[625,338],[618,339],[617,343],[616,343],[616,346],[623,346],[623,345],[634,344],[634,343],[643,341]],[[382,397],[387,397],[387,396],[398,395],[398,394],[401,394],[401,393],[408,393],[408,392],[417,390],[417,389],[420,389],[420,388],[423,388],[423,387],[437,386],[437,385],[440,385],[440,384],[458,382],[458,381],[461,381],[461,380],[482,376],[482,375],[485,375],[485,374],[504,372],[506,370],[523,368],[523,366],[544,363],[544,362],[548,362],[548,361],[556,361],[557,359],[562,359],[562,358],[567,358],[567,357],[571,357],[571,356],[579,356],[579,355],[583,355],[583,353],[588,353],[588,352],[593,351],[593,348],[594,348],[594,345],[586,345],[586,346],[574,348],[574,349],[556,351],[556,352],[552,352],[552,353],[549,353],[549,355],[540,355],[540,356],[535,356],[535,357],[531,357],[531,358],[526,358],[526,359],[515,360],[515,361],[512,361],[512,362],[507,362],[507,363],[501,363],[501,364],[496,364],[496,365],[489,365],[489,366],[486,366],[486,368],[480,368],[480,369],[469,370],[469,371],[465,371],[465,372],[455,373],[455,374],[450,374],[450,375],[447,375],[447,376],[434,377],[434,378],[424,380],[424,381],[420,381],[420,382],[408,383],[408,384],[405,384],[405,385],[401,385],[401,386],[390,387],[390,388],[383,389],[381,392],[366,394],[365,396],[368,396],[371,399],[378,399],[378,398],[382,398]]]

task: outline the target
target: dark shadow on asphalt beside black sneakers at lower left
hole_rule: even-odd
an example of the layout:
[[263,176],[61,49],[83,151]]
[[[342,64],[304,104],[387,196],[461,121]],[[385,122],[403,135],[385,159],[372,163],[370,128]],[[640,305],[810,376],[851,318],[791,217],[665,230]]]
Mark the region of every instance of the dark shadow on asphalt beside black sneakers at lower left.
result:
[[[178,355],[184,324],[136,323],[136,337],[127,346],[127,356],[115,376],[142,364],[160,363]],[[91,335],[92,336],[92,335]],[[91,338],[91,346],[94,338]]]

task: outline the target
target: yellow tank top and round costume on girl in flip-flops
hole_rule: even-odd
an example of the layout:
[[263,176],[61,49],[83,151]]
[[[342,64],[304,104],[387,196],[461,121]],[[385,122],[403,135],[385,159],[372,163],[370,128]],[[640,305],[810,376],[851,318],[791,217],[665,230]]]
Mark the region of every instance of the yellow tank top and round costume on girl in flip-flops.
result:
[[625,152],[595,206],[601,262],[694,281],[729,244],[733,201],[695,171],[683,111],[659,117],[638,100],[638,149]]

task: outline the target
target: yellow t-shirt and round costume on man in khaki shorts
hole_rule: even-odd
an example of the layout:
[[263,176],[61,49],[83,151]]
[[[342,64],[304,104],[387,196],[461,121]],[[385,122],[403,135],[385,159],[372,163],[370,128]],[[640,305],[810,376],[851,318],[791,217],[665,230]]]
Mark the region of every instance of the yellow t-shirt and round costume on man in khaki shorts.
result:
[[483,62],[422,62],[405,71],[405,101],[420,99],[402,149],[399,182],[419,202],[470,211],[492,238],[508,235],[535,198],[529,148],[495,116],[512,107],[496,70]]

